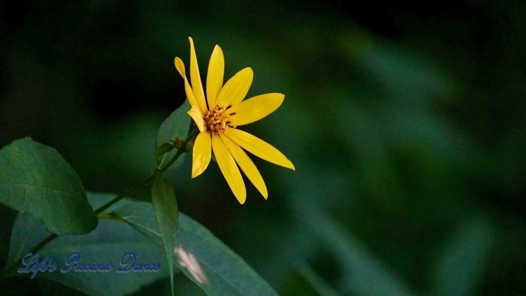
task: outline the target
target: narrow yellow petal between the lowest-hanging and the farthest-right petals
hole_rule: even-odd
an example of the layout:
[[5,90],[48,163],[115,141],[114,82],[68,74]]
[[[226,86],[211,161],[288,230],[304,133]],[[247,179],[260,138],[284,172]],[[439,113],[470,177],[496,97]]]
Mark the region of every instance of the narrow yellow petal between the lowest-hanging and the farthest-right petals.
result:
[[263,178],[261,177],[261,174],[258,171],[258,168],[250,160],[247,153],[243,151],[236,143],[232,142],[228,137],[224,135],[219,135],[221,138],[221,141],[223,141],[223,144],[227,147],[228,151],[232,156],[234,156],[234,160],[236,160],[239,167],[241,167],[241,170],[247,175],[248,180],[256,186],[258,191],[263,195],[265,199],[268,198],[268,192],[267,192],[267,186],[265,185],[265,181],[263,181]]

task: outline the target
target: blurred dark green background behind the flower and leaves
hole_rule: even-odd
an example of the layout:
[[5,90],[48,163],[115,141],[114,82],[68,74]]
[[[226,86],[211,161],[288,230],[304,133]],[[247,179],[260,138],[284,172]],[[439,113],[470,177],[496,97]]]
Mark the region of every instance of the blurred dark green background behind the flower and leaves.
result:
[[[87,190],[128,188],[184,100],[173,58],[188,67],[192,36],[201,73],[219,44],[225,77],[254,70],[249,96],[286,95],[245,129],[296,165],[255,160],[268,201],[247,185],[239,205],[215,164],[190,179],[190,157],[167,175],[179,209],[280,294],[316,295],[301,262],[346,295],[390,295],[391,280],[416,295],[526,294],[526,4],[348,5],[2,2],[0,144],[31,136]],[[15,213],[0,210],[2,266]],[[377,294],[356,288],[368,280]]]

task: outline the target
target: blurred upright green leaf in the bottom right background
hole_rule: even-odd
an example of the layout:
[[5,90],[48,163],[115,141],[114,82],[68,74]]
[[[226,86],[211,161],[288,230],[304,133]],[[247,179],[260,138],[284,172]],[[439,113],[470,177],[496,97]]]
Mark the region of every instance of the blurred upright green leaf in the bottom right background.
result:
[[437,295],[473,295],[478,288],[492,231],[481,220],[470,220],[446,244],[435,268],[433,288]]

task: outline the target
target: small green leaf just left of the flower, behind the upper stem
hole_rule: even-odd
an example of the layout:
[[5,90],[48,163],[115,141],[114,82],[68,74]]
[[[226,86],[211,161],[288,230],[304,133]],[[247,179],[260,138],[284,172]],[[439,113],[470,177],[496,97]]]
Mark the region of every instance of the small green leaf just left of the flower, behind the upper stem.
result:
[[[190,116],[186,112],[190,110],[190,104],[187,100],[180,105],[174,112],[167,117],[167,119],[161,123],[159,126],[159,131],[157,132],[157,144],[156,147],[159,147],[163,143],[166,143],[170,140],[175,140],[178,136],[181,139],[185,139],[188,131],[190,129]],[[175,155],[177,150],[172,150],[166,153],[165,157],[160,157],[157,160],[157,164],[160,164],[163,159],[169,160],[172,156]],[[185,154],[179,156],[174,164],[172,164],[169,169],[174,169],[175,167],[181,165],[185,159]]]

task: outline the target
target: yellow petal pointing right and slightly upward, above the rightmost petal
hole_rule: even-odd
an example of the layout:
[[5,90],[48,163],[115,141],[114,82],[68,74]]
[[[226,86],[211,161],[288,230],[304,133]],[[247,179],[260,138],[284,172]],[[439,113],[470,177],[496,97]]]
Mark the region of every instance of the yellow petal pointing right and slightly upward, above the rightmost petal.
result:
[[238,126],[258,121],[276,111],[284,98],[284,94],[277,93],[251,97],[242,101],[239,105],[230,108],[230,114],[236,113],[232,115],[230,119]]

